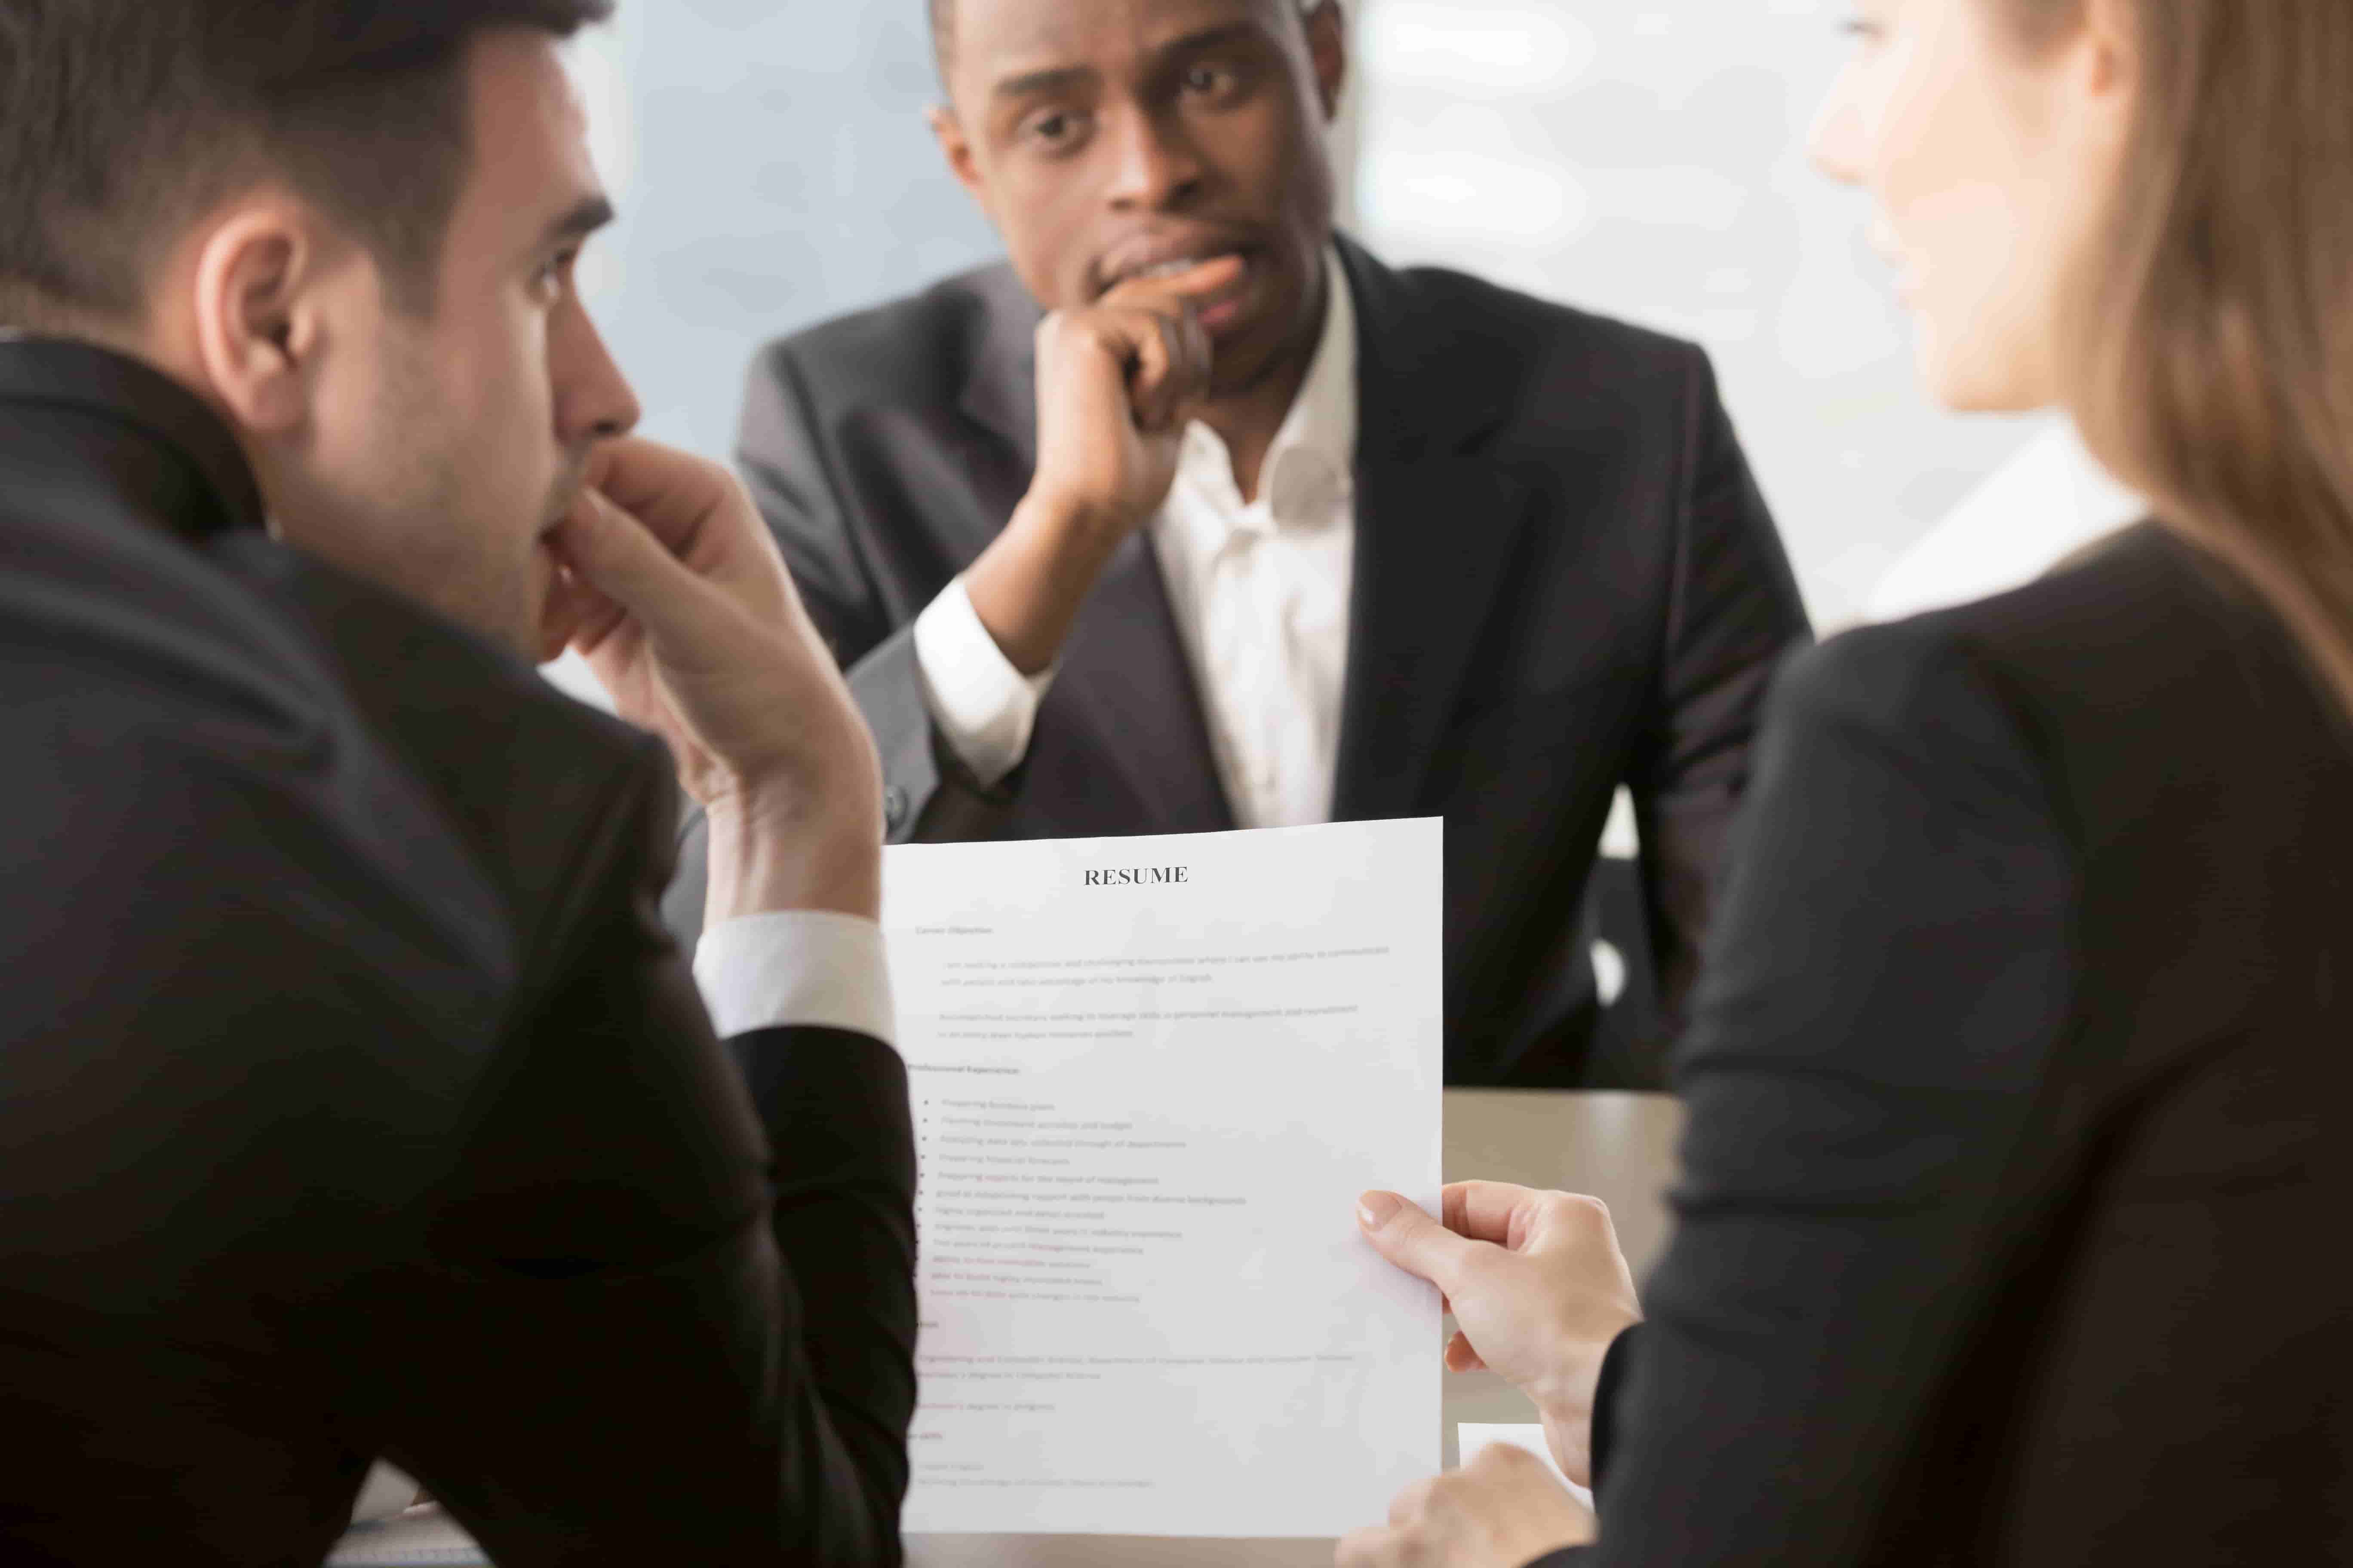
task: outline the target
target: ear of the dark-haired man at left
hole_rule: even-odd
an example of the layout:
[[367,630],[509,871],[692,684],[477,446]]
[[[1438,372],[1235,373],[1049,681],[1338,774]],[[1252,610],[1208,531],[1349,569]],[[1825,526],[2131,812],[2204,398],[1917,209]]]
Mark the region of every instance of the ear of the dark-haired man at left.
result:
[[296,202],[240,207],[195,256],[195,350],[205,383],[249,433],[285,437],[311,418],[327,346],[327,256]]

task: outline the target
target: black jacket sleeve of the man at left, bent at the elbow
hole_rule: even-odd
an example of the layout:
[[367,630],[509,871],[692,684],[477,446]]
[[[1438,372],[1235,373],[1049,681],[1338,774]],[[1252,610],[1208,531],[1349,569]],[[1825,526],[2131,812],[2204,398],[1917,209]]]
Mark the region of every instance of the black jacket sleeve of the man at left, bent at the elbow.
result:
[[[652,764],[649,764],[652,766]],[[499,1563],[887,1563],[915,1406],[896,1053],[727,1048],[654,914],[638,788],[433,1213],[386,1455]]]

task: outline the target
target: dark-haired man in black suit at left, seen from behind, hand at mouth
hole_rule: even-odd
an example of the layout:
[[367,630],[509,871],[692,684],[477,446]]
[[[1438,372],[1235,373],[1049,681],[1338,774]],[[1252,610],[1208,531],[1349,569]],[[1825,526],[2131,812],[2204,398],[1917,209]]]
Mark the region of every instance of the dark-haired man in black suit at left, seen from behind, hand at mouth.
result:
[[501,1563],[896,1561],[880,769],[624,440],[602,12],[0,0],[7,1563],[318,1563],[379,1453]]

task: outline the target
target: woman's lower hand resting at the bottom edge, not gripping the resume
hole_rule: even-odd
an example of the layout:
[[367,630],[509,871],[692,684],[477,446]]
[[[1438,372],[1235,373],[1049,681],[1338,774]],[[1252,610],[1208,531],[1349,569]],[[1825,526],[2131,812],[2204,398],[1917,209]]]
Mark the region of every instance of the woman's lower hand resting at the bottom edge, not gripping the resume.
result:
[[1593,1512],[1537,1455],[1497,1443],[1405,1488],[1388,1526],[1339,1542],[1339,1568],[1525,1568],[1593,1540]]

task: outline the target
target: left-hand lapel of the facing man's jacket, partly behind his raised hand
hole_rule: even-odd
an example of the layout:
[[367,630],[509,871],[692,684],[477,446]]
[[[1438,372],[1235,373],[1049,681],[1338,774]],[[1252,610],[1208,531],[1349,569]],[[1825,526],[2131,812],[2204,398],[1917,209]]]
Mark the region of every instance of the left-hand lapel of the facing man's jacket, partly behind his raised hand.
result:
[[[1012,447],[1026,487],[1038,468],[1040,310],[1012,268],[984,275],[979,292],[986,310],[960,407]],[[1012,503],[988,520],[988,538],[1009,515]],[[1099,757],[1148,804],[1144,832],[1233,827],[1233,806],[1209,750],[1207,710],[1176,637],[1151,538],[1129,538],[1104,569],[1071,628],[1061,663],[1064,672],[1040,708],[1040,729],[1054,724],[1092,733],[1101,743]]]

